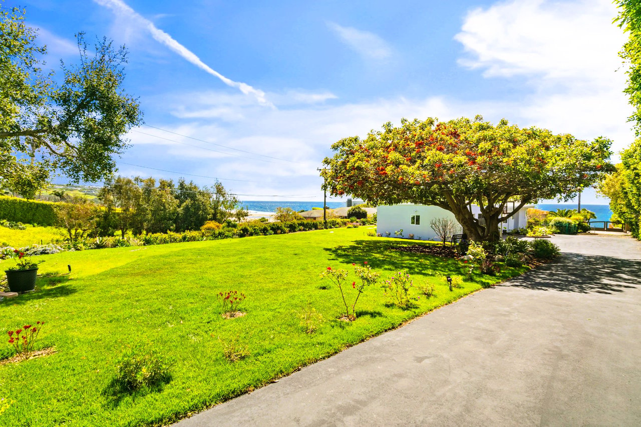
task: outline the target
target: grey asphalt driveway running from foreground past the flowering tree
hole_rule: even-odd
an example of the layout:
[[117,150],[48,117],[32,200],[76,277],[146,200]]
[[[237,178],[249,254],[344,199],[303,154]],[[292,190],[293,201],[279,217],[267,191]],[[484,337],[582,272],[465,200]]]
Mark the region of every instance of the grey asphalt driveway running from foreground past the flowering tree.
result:
[[563,256],[190,426],[639,426],[641,243],[556,236]]

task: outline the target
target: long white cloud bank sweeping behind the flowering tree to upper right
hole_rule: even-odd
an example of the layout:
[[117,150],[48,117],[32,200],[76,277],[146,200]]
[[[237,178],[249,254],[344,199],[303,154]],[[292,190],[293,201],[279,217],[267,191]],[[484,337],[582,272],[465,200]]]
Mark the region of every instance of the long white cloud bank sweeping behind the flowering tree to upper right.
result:
[[[522,0],[497,3],[467,15],[462,33],[456,36],[467,49],[466,66],[485,72],[488,78],[520,81],[525,77],[529,94],[508,101],[393,96],[341,103],[340,100],[326,102],[336,99],[328,91],[292,90],[269,94],[280,107],[278,110],[261,108],[241,94],[214,91],[163,94],[147,102],[166,106],[175,119],[150,124],[292,162],[262,159],[274,162],[268,163],[251,155],[248,156],[254,160],[232,156],[216,158],[201,149],[173,145],[154,147],[148,162],[132,160],[131,163],[263,182],[223,181],[239,194],[301,194],[300,199],[310,196],[321,200],[322,180],[315,169],[324,156],[332,154],[329,146],[340,138],[364,137],[367,131],[378,130],[387,121],[399,124],[401,117],[447,120],[480,113],[492,122],[506,117],[519,126],[540,126],[554,133],[572,133],[578,138],[604,135],[615,141],[614,149],[618,151],[628,146],[633,133],[626,122],[630,107],[621,93],[624,71],[615,71],[620,64],[617,52],[624,37],[612,24],[615,11],[608,2]],[[527,24],[526,16],[531,17],[533,24]],[[537,37],[538,33],[545,34]],[[572,49],[583,53],[572,59],[575,55]],[[583,58],[587,52],[589,57]],[[180,126],[172,124],[176,122],[180,122]],[[143,131],[163,135],[162,131],[146,128]],[[208,147],[175,135],[165,136]],[[137,148],[148,150],[148,147],[141,144]],[[131,155],[140,157],[149,152]],[[154,172],[154,175],[162,176],[162,173]],[[247,199],[263,198],[269,197]]]

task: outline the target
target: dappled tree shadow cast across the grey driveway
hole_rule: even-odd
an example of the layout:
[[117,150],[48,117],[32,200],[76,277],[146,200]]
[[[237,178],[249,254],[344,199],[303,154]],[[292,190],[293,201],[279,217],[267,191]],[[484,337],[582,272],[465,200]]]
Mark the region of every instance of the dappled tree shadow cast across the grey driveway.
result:
[[506,283],[525,289],[615,294],[641,289],[641,261],[602,255],[563,253]]

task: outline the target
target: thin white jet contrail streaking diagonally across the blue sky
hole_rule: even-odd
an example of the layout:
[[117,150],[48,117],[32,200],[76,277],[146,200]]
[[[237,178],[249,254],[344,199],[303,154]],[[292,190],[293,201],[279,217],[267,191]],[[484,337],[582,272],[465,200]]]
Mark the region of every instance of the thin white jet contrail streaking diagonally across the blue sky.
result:
[[189,62],[193,63],[196,65],[196,67],[200,67],[204,71],[208,72],[209,74],[212,74],[212,76],[215,76],[219,79],[222,80],[223,83],[225,83],[228,86],[235,87],[240,89],[240,92],[246,94],[246,95],[253,95],[258,99],[258,102],[261,103],[262,105],[269,105],[269,106],[274,106],[272,103],[267,101],[265,98],[265,92],[263,92],[260,89],[253,88],[247,83],[242,83],[242,81],[233,81],[231,79],[226,78],[223,76],[221,73],[215,71],[201,61],[198,56],[196,56],[195,53],[187,49],[187,47],[179,44],[174,38],[171,37],[171,35],[165,33],[162,29],[157,28],[153,22],[149,21],[149,19],[146,19],[140,15],[140,13],[136,12],[133,10],[131,7],[128,6],[128,4],[124,3],[122,0],[94,0],[97,4],[100,4],[101,6],[105,6],[110,8],[116,13],[122,13],[124,15],[128,15],[128,17],[133,18],[135,21],[137,21],[141,27],[146,28],[149,33],[151,33],[151,37],[155,38],[157,42],[160,42],[164,44],[165,46],[169,47],[172,51],[178,53],[180,56],[188,60]]

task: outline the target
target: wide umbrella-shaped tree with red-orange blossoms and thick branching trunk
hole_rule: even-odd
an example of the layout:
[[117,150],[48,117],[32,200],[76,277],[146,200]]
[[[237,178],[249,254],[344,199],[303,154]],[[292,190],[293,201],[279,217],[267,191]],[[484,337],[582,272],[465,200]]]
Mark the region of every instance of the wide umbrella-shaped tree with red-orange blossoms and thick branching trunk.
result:
[[[610,143],[522,129],[505,119],[494,126],[481,116],[403,119],[399,127],[387,122],[365,139],[333,144],[337,153],[323,160],[321,176],[334,196],[440,206],[454,213],[470,239],[492,241],[500,238],[499,224],[524,205],[568,200],[612,171]],[[471,205],[479,206],[484,221],[472,215]]]

